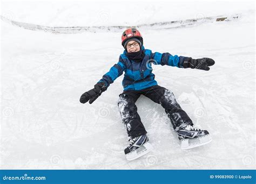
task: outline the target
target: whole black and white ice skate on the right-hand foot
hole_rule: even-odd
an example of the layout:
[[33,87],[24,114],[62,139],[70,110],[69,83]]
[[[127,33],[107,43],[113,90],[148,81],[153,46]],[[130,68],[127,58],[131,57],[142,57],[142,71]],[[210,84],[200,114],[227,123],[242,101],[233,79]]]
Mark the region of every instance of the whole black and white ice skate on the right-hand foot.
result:
[[184,129],[177,130],[179,139],[181,140],[181,149],[190,149],[202,146],[212,141],[207,130],[200,130],[187,125]]

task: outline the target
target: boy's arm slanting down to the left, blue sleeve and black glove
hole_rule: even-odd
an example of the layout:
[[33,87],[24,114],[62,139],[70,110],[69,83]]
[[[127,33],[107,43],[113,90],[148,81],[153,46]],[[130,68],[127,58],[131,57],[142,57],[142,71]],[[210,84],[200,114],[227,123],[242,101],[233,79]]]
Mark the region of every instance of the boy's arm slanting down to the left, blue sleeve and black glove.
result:
[[117,77],[123,74],[125,68],[122,58],[119,58],[118,63],[112,66],[109,72],[103,75],[102,79],[95,84],[94,88],[86,91],[80,97],[80,102],[86,103],[89,101],[90,104],[93,103],[102,94],[102,92],[104,92],[109,85],[117,79]]

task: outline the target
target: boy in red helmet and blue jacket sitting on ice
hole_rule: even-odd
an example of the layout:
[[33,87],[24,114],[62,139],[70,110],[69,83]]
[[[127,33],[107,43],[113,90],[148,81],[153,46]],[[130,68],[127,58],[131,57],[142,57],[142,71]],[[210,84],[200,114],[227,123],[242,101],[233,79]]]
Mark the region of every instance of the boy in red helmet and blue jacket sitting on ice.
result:
[[170,53],[152,53],[143,46],[142,34],[134,28],[127,29],[122,34],[124,53],[119,61],[103,78],[95,84],[95,88],[85,92],[80,97],[81,103],[91,104],[105,91],[114,80],[124,74],[124,91],[119,95],[118,108],[125,125],[130,144],[124,152],[127,160],[141,157],[152,149],[146,130],[135,105],[140,95],[161,104],[173,125],[174,131],[181,140],[181,148],[188,149],[210,143],[212,140],[208,131],[193,128],[193,123],[186,112],[181,109],[170,90],[160,87],[154,80],[151,64],[169,65],[179,68],[197,68],[209,70],[214,65],[210,58],[192,59]]

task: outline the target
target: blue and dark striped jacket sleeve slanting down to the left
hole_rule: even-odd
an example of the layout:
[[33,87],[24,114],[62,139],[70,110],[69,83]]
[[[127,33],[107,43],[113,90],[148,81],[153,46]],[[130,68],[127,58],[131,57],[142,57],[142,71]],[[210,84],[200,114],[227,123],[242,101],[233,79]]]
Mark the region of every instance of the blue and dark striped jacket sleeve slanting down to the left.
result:
[[107,87],[111,83],[114,82],[114,80],[117,79],[117,77],[121,76],[123,72],[125,71],[125,64],[122,61],[122,59],[119,58],[118,63],[114,64],[105,75],[103,75],[102,79],[100,79],[98,82],[104,82]]

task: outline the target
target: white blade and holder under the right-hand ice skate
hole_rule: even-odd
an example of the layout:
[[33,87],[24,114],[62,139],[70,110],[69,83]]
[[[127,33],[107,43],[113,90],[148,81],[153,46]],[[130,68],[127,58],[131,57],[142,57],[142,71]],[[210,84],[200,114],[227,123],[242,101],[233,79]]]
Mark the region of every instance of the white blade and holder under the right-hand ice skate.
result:
[[203,146],[210,143],[211,141],[212,137],[210,135],[199,138],[181,140],[181,149],[187,150],[194,147]]

